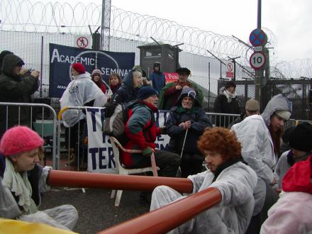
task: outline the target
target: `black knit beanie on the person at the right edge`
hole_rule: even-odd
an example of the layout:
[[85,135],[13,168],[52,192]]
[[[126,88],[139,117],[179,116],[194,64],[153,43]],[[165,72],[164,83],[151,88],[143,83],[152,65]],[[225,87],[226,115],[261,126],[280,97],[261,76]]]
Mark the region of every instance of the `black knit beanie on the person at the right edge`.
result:
[[309,152],[312,150],[312,125],[300,123],[291,132],[289,146],[295,150]]

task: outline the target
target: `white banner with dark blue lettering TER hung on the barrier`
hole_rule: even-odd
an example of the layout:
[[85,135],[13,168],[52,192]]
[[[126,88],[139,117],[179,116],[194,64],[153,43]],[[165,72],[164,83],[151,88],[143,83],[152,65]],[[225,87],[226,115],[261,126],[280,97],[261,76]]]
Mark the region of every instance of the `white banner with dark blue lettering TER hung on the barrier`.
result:
[[[105,108],[87,108],[88,126],[88,171],[116,173],[116,162],[113,158],[113,147],[107,135],[102,132]],[[169,111],[155,113],[156,125],[164,126]],[[156,148],[165,150],[169,145],[169,135],[157,137]]]

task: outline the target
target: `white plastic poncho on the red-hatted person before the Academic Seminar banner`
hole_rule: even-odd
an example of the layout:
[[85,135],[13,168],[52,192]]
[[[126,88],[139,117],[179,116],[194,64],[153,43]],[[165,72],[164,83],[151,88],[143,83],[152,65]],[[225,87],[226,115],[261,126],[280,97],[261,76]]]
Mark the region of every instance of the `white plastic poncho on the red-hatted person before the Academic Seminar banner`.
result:
[[[94,100],[94,106],[101,107],[106,104],[107,98],[101,89],[91,80],[89,74],[79,74],[73,77],[60,99],[61,108],[65,106],[84,106]],[[74,126],[83,119],[82,110],[67,110],[62,113],[64,125]]]

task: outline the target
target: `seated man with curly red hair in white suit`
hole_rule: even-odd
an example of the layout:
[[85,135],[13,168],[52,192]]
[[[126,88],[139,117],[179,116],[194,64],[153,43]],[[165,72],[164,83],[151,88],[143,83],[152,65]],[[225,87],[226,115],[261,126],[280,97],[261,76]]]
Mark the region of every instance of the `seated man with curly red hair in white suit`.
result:
[[[193,194],[214,187],[221,193],[221,203],[169,233],[245,233],[255,206],[252,193],[257,175],[243,162],[238,139],[228,129],[211,128],[201,135],[198,147],[209,169],[188,177]],[[183,198],[168,186],[157,186],[150,211]]]

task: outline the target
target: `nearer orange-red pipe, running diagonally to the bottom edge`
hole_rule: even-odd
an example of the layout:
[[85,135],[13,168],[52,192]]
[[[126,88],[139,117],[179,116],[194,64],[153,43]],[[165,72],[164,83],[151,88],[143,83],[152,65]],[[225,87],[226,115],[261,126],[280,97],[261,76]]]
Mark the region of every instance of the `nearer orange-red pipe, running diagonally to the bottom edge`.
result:
[[186,199],[176,201],[168,206],[103,230],[99,234],[167,233],[199,213],[219,204],[221,199],[221,192],[218,189],[208,188],[192,194]]

